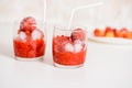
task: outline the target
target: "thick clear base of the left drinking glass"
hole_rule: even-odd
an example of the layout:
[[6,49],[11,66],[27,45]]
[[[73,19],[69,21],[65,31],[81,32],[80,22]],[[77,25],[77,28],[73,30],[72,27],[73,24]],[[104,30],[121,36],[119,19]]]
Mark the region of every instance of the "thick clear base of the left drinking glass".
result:
[[44,56],[33,57],[33,58],[25,58],[25,57],[15,56],[15,59],[22,61],[22,62],[35,62],[35,61],[42,61],[43,58],[44,58]]

